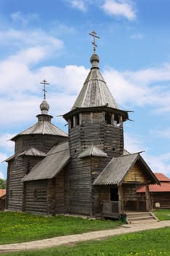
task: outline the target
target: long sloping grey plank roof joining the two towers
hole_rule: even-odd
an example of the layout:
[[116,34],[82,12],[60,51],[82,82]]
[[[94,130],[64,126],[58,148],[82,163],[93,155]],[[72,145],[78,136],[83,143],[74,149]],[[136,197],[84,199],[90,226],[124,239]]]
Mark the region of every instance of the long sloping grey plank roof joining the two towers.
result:
[[28,175],[24,176],[23,181],[53,178],[63,170],[69,159],[69,142],[59,143],[47,153],[47,157],[31,169]]

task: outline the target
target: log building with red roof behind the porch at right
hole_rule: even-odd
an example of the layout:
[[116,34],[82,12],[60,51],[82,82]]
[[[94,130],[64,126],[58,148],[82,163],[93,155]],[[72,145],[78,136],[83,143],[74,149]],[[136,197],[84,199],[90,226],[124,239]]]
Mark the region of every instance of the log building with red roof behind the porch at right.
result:
[[[163,173],[154,173],[161,185],[150,184],[150,203],[152,208],[170,208],[170,178]],[[140,197],[144,197],[146,187],[140,187],[136,190]]]

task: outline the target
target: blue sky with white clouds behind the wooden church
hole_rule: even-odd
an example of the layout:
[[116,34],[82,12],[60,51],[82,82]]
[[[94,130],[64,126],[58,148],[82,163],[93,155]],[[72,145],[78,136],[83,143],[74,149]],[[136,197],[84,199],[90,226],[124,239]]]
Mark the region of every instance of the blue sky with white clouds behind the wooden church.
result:
[[57,116],[88,75],[95,29],[101,73],[120,109],[134,111],[125,148],[170,177],[169,10],[169,0],[0,0],[0,162],[14,153],[9,139],[36,123],[44,78],[53,124],[66,131]]

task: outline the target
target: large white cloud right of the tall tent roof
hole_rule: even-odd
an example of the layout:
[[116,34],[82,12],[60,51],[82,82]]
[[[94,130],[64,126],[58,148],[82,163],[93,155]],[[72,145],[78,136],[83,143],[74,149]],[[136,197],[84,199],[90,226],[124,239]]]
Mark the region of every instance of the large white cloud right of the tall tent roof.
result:
[[[152,106],[152,113],[168,112],[170,102],[170,65],[160,68],[142,69],[136,72],[118,72],[105,69],[107,81],[116,101],[121,105]],[[112,87],[111,87],[112,86]]]

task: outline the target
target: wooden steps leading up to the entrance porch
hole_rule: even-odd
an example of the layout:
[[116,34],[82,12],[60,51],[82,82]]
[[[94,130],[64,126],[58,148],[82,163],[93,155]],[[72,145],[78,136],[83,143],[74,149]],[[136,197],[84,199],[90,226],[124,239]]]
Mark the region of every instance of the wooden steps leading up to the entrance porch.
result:
[[128,224],[139,224],[146,222],[158,222],[159,220],[150,211],[126,212],[126,222]]

